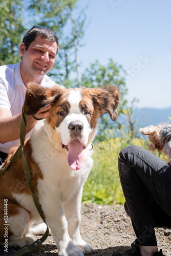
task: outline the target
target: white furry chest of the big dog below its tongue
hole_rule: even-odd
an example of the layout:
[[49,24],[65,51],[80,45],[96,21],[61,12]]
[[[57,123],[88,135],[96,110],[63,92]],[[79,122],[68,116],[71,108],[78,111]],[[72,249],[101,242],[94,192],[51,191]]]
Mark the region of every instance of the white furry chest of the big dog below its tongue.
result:
[[[56,132],[56,131],[55,131]],[[39,134],[39,143],[34,137]],[[91,152],[84,150],[84,165],[79,170],[73,170],[68,163],[65,149],[57,149],[49,140],[45,131],[35,131],[31,138],[34,160],[38,164],[43,179],[37,182],[38,195],[43,197],[51,191],[51,195],[61,201],[68,201],[86,181],[93,166]],[[46,146],[45,146],[46,145]]]

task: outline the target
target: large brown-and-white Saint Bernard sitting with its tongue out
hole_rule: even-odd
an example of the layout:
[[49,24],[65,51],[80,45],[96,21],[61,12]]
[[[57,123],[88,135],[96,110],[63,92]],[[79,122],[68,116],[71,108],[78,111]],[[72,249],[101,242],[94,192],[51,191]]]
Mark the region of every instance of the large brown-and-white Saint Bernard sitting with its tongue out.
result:
[[[52,105],[49,117],[38,121],[26,140],[24,153],[33,194],[44,211],[59,255],[82,256],[92,251],[79,231],[82,188],[93,165],[90,150],[97,119],[106,111],[116,120],[119,100],[114,86],[67,90],[57,85],[50,89],[28,84],[24,103],[27,115]],[[46,228],[41,224],[33,226],[41,218],[25,179],[22,156],[0,176],[0,184],[1,243],[5,240],[4,200],[8,200],[8,245],[23,247],[32,243],[31,234],[45,232]]]

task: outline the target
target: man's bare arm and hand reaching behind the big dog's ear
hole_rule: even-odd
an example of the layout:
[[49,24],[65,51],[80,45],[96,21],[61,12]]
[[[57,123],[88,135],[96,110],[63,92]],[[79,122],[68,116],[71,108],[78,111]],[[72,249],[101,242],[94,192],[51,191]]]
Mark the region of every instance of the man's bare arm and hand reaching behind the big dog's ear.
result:
[[[45,118],[49,115],[49,109],[51,106],[47,106],[44,109],[39,110],[35,116],[37,118]],[[47,111],[47,112],[45,112]],[[45,113],[42,113],[45,112]],[[20,130],[20,118],[21,113],[12,116],[11,111],[7,109],[0,108],[0,143],[4,144],[9,141],[19,139]],[[27,129],[26,133],[30,132],[37,121],[32,116],[27,116]]]

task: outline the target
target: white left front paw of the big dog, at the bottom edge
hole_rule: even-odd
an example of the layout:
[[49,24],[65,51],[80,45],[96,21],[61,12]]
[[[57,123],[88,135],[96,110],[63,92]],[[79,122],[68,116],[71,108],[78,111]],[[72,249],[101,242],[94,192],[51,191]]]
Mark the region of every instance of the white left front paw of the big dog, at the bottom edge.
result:
[[77,248],[71,241],[68,243],[67,248],[59,248],[59,256],[83,256],[82,251]]

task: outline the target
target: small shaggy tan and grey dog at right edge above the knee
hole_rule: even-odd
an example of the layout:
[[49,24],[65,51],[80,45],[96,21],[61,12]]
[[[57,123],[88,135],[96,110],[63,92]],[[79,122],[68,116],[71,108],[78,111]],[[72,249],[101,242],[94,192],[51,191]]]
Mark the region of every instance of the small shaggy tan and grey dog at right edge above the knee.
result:
[[149,141],[152,143],[149,144],[148,148],[151,151],[156,149],[161,152],[163,151],[164,155],[171,158],[171,125],[168,123],[159,124],[159,125],[150,125],[144,128],[140,128],[140,133],[143,135],[148,135]]

